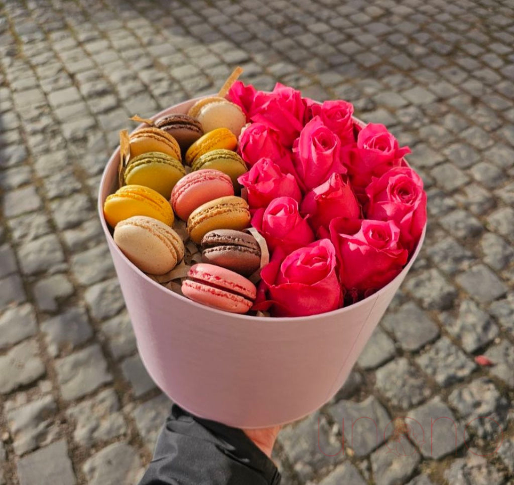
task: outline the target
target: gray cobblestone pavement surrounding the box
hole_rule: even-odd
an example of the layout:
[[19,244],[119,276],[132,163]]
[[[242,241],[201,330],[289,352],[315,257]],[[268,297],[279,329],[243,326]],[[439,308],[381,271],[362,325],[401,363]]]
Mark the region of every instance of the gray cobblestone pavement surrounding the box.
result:
[[170,402],[137,355],[96,190],[127,116],[235,65],[260,89],[352,101],[411,146],[429,194],[426,244],[350,379],[281,433],[283,483],[514,483],[512,0],[0,9],[0,485],[132,484],[148,464]]

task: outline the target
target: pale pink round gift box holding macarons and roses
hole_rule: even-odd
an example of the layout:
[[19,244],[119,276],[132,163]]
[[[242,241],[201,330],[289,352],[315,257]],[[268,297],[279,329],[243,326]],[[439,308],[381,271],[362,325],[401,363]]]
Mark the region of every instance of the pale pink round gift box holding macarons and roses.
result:
[[[187,113],[196,100],[153,119]],[[355,305],[301,318],[265,318],[208,308],[162,287],[115,245],[103,216],[117,189],[119,147],[105,167],[98,211],[141,360],[171,400],[201,418],[259,428],[300,419],[332,399],[416,259]]]

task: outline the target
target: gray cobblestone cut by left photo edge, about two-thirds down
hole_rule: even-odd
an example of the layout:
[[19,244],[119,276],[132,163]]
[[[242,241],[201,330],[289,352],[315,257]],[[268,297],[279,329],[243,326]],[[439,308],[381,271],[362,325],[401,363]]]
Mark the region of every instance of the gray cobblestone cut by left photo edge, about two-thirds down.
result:
[[0,349],[32,337],[38,331],[30,303],[7,308],[0,316]]

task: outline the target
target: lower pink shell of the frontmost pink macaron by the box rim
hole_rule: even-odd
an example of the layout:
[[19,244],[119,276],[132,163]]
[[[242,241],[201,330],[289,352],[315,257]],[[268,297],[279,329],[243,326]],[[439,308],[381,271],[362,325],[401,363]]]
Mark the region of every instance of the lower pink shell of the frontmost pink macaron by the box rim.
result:
[[231,313],[246,313],[253,304],[244,296],[189,279],[182,283],[182,294],[194,302]]

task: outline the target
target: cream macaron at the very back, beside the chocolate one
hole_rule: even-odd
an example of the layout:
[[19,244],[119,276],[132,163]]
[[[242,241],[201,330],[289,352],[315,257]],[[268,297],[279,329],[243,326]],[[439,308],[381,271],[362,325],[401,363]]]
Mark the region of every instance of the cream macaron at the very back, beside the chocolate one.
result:
[[238,138],[246,124],[246,115],[241,107],[219,96],[198,100],[188,114],[198,119],[205,133],[225,127]]

